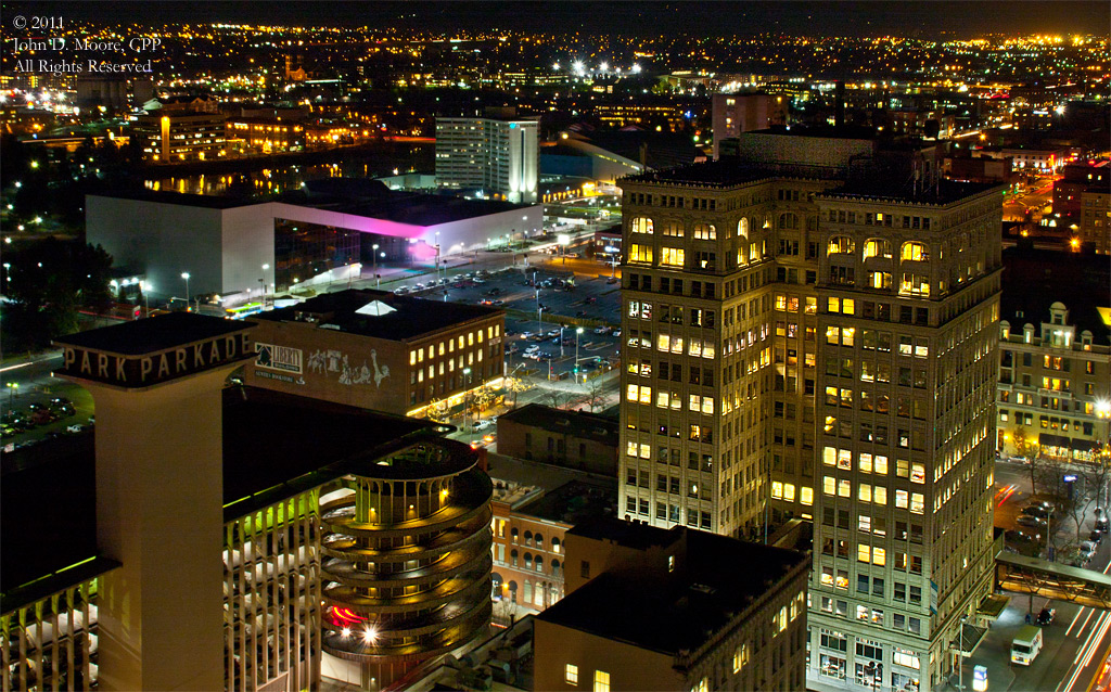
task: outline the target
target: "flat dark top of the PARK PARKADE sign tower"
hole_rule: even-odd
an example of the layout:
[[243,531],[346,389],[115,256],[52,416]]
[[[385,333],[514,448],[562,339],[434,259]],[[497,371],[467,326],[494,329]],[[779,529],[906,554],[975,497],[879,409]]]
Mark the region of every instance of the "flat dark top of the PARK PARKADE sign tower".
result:
[[253,322],[224,320],[191,312],[170,312],[147,320],[59,337],[59,345],[120,355],[157,353],[197,341],[214,339],[254,327]]

